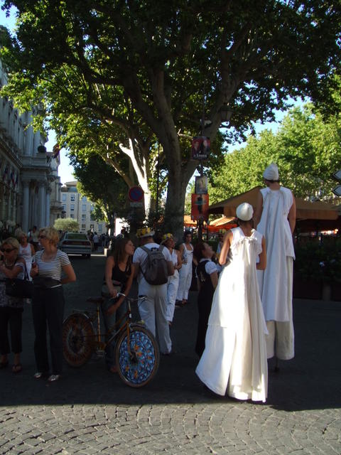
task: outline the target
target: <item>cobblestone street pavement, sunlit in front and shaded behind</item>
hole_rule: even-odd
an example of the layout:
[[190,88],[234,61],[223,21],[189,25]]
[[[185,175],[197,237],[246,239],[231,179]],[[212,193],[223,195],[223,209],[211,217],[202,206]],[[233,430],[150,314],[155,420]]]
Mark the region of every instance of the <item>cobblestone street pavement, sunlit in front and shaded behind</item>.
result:
[[[71,257],[77,283],[67,308],[98,294],[104,258]],[[272,373],[266,404],[204,390],[195,376],[195,292],[175,312],[175,355],[139,390],[108,373],[102,358],[62,380],[34,380],[31,308],[24,312],[23,371],[0,371],[0,454],[340,454],[341,303],[296,300],[296,358]]]

